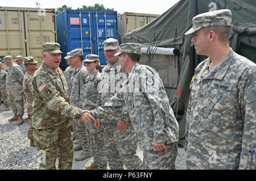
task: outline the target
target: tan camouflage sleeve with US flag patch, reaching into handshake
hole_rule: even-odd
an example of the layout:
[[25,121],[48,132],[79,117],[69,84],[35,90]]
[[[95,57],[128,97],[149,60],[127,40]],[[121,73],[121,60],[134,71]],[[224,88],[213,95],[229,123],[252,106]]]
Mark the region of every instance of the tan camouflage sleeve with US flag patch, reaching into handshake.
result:
[[81,117],[81,110],[71,106],[60,93],[55,89],[55,86],[46,76],[39,76],[33,80],[37,91],[42,96],[46,107],[54,112],[69,117],[71,119],[79,119]]

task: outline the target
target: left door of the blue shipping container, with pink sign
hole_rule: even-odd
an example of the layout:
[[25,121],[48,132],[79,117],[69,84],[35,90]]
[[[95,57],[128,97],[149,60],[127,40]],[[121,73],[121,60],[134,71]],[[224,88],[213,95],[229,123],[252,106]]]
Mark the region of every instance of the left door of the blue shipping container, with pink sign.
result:
[[68,37],[69,37],[69,50],[80,48],[86,54],[92,53],[91,40],[92,35],[90,27],[92,27],[92,18],[89,13],[70,13],[68,14]]

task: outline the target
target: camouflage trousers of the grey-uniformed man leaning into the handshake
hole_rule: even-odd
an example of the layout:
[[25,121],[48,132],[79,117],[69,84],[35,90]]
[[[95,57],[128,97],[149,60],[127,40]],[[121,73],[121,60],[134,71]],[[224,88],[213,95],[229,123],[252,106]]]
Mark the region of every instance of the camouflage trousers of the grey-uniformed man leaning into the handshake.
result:
[[166,149],[161,151],[143,151],[144,170],[175,170],[177,157],[177,142],[166,144]]

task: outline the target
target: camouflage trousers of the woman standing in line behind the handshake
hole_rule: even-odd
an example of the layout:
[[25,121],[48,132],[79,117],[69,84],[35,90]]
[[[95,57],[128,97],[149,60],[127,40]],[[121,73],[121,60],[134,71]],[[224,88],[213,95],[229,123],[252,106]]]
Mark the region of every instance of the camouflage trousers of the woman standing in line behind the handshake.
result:
[[94,121],[92,123],[86,124],[86,127],[89,128],[90,153],[93,156],[94,162],[97,163],[98,168],[104,169],[108,165],[108,161],[105,155],[104,128],[102,129],[95,128]]

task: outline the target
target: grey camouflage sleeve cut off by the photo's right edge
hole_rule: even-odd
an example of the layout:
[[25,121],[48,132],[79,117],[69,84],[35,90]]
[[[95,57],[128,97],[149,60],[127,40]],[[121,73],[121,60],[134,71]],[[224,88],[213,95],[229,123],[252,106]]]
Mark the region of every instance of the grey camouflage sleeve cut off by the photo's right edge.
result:
[[244,121],[239,169],[256,169],[256,73],[248,78],[241,98]]

